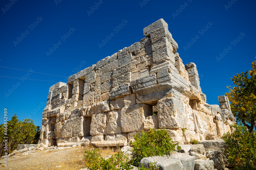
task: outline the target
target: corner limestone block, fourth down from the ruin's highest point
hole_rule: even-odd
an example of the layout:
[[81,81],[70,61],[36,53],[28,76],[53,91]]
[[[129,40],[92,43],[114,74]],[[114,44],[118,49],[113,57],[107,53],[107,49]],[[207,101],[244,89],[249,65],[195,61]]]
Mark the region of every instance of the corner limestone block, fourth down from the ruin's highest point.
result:
[[172,61],[173,64],[175,64],[173,49],[170,49],[169,47],[165,47],[153,52],[152,56],[154,63],[166,59]]

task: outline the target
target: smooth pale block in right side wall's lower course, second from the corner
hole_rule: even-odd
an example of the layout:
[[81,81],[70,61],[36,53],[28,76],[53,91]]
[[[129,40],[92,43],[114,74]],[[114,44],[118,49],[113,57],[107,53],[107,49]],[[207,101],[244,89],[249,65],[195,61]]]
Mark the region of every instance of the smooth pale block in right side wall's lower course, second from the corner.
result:
[[207,117],[203,112],[199,112],[197,110],[193,111],[194,124],[195,124],[195,132],[196,133],[205,133],[207,130]]

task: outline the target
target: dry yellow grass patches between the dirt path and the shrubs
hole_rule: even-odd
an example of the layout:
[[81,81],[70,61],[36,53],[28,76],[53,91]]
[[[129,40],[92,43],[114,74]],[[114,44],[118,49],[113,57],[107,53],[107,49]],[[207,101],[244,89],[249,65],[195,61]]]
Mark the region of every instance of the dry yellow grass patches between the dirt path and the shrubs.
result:
[[[87,146],[87,147],[84,147],[83,149],[81,149],[84,153],[85,150],[89,150],[91,148],[95,148],[93,146]],[[118,153],[121,148],[120,147],[97,147],[99,150],[100,150],[100,154],[102,157],[107,157],[109,155],[114,155],[116,153]],[[62,162],[62,163],[59,163],[58,165],[60,165],[61,167],[56,167],[56,166],[53,166],[51,168],[48,168],[49,170],[54,170],[54,169],[70,169],[70,170],[77,170],[77,169],[83,169],[86,167],[86,162],[84,160],[84,157],[81,156],[80,158],[72,158],[72,157],[69,157],[67,158],[67,161],[65,162]]]

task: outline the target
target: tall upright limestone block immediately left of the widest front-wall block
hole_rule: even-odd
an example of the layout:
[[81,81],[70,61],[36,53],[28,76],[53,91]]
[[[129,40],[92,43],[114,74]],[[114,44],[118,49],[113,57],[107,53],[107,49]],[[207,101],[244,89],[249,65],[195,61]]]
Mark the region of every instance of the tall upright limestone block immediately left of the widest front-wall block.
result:
[[107,116],[106,133],[117,134],[122,133],[121,128],[121,110],[112,110],[108,112]]

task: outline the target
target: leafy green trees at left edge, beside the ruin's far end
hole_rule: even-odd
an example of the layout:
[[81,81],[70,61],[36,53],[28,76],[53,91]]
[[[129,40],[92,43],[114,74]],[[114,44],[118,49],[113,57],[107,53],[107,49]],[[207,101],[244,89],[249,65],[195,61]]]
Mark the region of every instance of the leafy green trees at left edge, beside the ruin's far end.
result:
[[[1,156],[4,152],[12,152],[18,146],[18,144],[31,144],[38,140],[38,134],[40,134],[40,127],[34,125],[34,121],[31,119],[24,119],[23,122],[17,119],[17,115],[7,121],[7,135],[4,134],[4,124],[0,125],[0,153]],[[8,137],[7,151],[4,151],[4,137]]]

